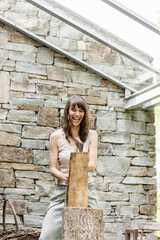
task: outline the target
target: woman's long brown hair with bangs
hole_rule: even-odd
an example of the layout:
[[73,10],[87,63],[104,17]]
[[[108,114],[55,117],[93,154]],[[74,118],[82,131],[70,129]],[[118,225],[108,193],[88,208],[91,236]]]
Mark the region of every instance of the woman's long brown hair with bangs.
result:
[[69,136],[73,137],[71,133],[72,122],[69,117],[69,108],[70,106],[75,107],[76,105],[78,106],[78,108],[81,108],[84,111],[84,117],[82,119],[82,122],[80,124],[80,129],[79,129],[79,137],[82,142],[85,142],[89,132],[89,118],[88,118],[87,104],[82,97],[73,95],[68,99],[64,109],[64,115],[62,118],[61,125],[65,133],[66,139],[69,141],[68,139]]

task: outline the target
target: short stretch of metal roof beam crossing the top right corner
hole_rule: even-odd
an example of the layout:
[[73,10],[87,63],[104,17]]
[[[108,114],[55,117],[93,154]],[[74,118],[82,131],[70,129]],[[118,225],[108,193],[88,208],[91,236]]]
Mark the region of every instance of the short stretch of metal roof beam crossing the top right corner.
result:
[[150,29],[151,31],[157,33],[160,35],[160,27],[157,26],[156,24],[150,22],[146,18],[142,17],[141,15],[137,14],[136,12],[132,11],[131,9],[127,8],[123,4],[115,1],[115,0],[101,0],[105,3],[107,3],[109,6],[115,8],[119,12],[125,14],[126,16],[132,18],[136,22],[142,24],[146,28]]

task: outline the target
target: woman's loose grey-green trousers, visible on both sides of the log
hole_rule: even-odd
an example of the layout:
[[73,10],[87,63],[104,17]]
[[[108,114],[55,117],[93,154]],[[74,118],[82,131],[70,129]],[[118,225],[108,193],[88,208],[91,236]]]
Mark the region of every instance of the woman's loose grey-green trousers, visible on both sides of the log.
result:
[[[43,221],[39,240],[61,240],[65,192],[66,186],[56,185]],[[93,184],[88,185],[88,207],[98,207],[97,194]]]

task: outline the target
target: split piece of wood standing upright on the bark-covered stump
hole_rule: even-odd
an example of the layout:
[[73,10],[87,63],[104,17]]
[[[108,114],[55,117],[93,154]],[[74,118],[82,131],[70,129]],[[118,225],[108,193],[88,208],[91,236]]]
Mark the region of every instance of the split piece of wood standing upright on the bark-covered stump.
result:
[[71,153],[67,207],[88,207],[88,153]]

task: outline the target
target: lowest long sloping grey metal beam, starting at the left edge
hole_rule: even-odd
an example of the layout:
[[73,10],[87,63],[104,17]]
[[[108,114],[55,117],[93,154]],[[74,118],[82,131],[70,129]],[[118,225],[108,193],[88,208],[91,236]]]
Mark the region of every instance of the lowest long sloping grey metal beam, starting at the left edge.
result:
[[93,73],[96,73],[96,74],[99,75],[100,77],[102,77],[102,78],[104,78],[104,79],[107,79],[107,80],[113,82],[113,83],[116,84],[117,86],[119,86],[119,87],[121,87],[121,88],[124,88],[124,89],[127,88],[127,89],[130,90],[131,92],[136,92],[136,90],[135,90],[134,88],[128,86],[128,85],[125,84],[125,83],[122,83],[120,80],[118,80],[118,79],[116,79],[116,78],[114,78],[114,77],[112,77],[112,76],[110,76],[110,75],[108,75],[108,74],[106,74],[106,73],[98,70],[98,69],[95,68],[95,67],[92,67],[91,65],[89,65],[89,64],[86,63],[85,61],[82,61],[82,60],[76,58],[76,57],[73,56],[72,54],[64,51],[63,49],[55,46],[54,44],[49,43],[48,41],[42,39],[41,37],[39,37],[39,36],[37,36],[37,35],[35,35],[35,34],[33,34],[32,32],[30,32],[30,31],[28,31],[28,30],[26,30],[26,29],[24,29],[24,28],[18,27],[17,25],[15,25],[14,23],[12,23],[11,21],[9,21],[9,20],[7,20],[7,19],[5,19],[5,18],[3,18],[3,17],[0,17],[0,21],[3,22],[3,23],[5,23],[6,25],[8,25],[8,26],[10,26],[10,27],[12,27],[12,28],[14,28],[14,29],[16,29],[17,31],[25,34],[26,36],[28,36],[28,37],[36,40],[37,42],[43,44],[44,46],[49,47],[49,48],[52,49],[53,51],[56,51],[56,52],[58,52],[59,54],[62,54],[63,56],[71,59],[72,61],[78,63],[79,65],[83,66],[84,68],[86,68],[86,69],[88,69],[88,70],[91,70]]

